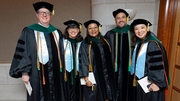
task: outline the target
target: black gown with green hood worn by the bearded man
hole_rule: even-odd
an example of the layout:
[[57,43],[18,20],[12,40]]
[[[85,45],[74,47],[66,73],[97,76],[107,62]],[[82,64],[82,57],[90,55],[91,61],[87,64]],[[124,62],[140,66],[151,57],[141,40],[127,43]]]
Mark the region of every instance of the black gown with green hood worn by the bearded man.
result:
[[[127,101],[128,99],[128,65],[130,61],[129,55],[131,52],[131,47],[129,44],[130,35],[128,35],[129,30],[130,26],[127,25],[122,29],[112,29],[105,34],[105,38],[109,41],[112,50],[113,68],[115,68],[115,64],[117,64],[117,71],[114,70],[114,101]],[[116,35],[118,35],[117,38]],[[116,49],[115,47],[118,48]],[[115,59],[117,59],[117,63],[115,62]]]

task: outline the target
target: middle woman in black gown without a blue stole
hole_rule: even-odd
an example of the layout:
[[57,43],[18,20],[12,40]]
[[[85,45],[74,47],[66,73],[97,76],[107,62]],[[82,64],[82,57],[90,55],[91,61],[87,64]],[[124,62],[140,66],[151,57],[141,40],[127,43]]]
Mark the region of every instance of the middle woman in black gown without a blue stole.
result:
[[[79,59],[81,79],[85,101],[109,101],[112,99],[111,84],[107,70],[113,70],[110,46],[101,36],[98,21],[89,20],[84,23],[87,36],[81,43]],[[94,75],[96,83],[90,80],[89,74]]]

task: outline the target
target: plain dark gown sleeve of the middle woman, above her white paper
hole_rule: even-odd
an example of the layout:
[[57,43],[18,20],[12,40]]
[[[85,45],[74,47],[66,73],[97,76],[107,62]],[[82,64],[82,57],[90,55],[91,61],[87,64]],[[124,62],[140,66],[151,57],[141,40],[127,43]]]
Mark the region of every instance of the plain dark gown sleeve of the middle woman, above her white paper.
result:
[[88,62],[88,44],[82,42],[79,50],[79,76],[84,77],[89,74],[89,62]]

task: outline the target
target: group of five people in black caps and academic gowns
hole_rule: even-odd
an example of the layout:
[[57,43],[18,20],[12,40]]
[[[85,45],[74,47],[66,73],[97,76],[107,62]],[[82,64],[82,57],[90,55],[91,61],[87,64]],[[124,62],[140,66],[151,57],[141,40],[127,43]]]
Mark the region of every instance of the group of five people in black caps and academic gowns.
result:
[[[26,26],[17,41],[9,75],[30,84],[27,101],[165,101],[168,88],[166,51],[124,9],[113,11],[116,28],[101,34],[97,20],[64,22],[64,33],[50,24],[53,5],[33,4],[37,24]],[[147,83],[145,92],[141,83]]]

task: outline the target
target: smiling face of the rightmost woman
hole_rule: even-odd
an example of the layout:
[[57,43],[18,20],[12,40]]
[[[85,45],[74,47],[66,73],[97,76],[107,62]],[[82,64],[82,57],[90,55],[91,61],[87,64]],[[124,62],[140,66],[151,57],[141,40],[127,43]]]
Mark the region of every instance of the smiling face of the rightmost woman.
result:
[[147,26],[145,24],[136,25],[134,33],[139,39],[144,39],[147,36]]

